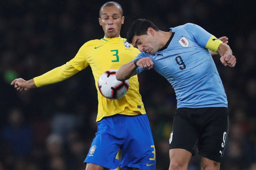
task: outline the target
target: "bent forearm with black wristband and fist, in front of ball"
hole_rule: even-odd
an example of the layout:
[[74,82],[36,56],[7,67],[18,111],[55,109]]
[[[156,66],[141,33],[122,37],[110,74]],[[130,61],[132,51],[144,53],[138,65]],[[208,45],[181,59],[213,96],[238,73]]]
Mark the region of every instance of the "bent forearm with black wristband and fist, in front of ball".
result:
[[140,59],[136,59],[134,61],[128,62],[122,65],[119,70],[116,72],[116,79],[119,81],[125,81],[130,77],[136,74],[137,67],[140,68],[153,68],[153,62],[150,57],[144,57]]

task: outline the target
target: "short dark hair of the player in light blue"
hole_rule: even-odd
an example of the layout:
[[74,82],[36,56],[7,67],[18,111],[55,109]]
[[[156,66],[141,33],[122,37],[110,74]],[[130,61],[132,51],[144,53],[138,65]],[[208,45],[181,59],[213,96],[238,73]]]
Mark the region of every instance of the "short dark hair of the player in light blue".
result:
[[131,43],[132,39],[136,35],[140,36],[140,35],[147,34],[149,27],[153,28],[155,31],[159,31],[159,28],[157,28],[157,26],[155,26],[154,23],[152,23],[149,20],[145,20],[145,19],[135,20],[128,29],[127,36],[126,36],[127,42]]

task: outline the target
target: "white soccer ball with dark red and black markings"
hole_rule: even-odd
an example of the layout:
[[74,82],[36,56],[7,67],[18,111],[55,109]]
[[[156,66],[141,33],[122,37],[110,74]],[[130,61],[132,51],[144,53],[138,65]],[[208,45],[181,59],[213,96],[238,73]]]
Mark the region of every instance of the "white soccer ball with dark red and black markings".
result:
[[98,81],[100,93],[108,99],[120,99],[124,96],[129,88],[129,81],[118,81],[116,79],[115,69],[105,71]]

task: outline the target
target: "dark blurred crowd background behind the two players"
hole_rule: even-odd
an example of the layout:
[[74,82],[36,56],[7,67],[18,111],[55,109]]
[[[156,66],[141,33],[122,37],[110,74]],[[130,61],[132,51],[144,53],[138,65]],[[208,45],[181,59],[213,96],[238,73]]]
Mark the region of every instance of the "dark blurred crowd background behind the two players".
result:
[[[84,170],[96,133],[97,93],[90,67],[55,85],[17,92],[10,82],[32,79],[72,59],[81,45],[104,36],[99,8],[107,0],[0,1],[0,170]],[[216,66],[227,93],[230,131],[221,170],[256,170],[255,0],[129,0],[121,37],[138,18],[161,30],[195,23],[229,37],[235,68]],[[176,109],[172,86],[155,71],[139,75],[154,136],[157,170],[169,167]],[[189,170],[200,170],[200,156]]]

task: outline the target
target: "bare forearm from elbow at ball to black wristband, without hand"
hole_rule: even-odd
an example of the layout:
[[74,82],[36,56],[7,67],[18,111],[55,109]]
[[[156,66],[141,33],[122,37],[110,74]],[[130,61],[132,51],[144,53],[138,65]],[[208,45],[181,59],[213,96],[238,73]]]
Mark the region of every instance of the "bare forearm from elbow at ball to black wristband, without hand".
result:
[[128,62],[122,65],[116,72],[116,79],[119,81],[125,81],[136,74],[137,67],[134,62]]

